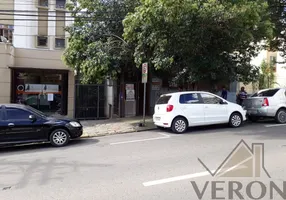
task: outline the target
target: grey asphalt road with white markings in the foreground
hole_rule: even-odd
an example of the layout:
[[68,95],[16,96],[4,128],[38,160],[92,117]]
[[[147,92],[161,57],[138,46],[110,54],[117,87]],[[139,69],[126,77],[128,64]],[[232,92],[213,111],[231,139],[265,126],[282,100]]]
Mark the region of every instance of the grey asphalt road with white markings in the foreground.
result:
[[[270,178],[263,170],[256,178],[213,177],[198,161],[200,158],[210,170],[216,170],[242,139],[250,148],[252,143],[264,143]],[[47,144],[5,148],[0,149],[0,199],[196,200],[193,184],[202,191],[207,182],[214,181],[224,181],[217,196],[230,199],[227,186],[234,180],[242,183],[245,199],[251,199],[245,188],[256,180],[266,185],[262,199],[269,200],[270,181],[283,189],[285,158],[286,125],[272,122],[238,129],[195,128],[182,135],[149,131],[81,139],[64,148]],[[259,196],[262,186],[252,186],[252,195]],[[214,199],[213,191],[208,185],[202,199]],[[282,198],[274,193],[274,199]]]

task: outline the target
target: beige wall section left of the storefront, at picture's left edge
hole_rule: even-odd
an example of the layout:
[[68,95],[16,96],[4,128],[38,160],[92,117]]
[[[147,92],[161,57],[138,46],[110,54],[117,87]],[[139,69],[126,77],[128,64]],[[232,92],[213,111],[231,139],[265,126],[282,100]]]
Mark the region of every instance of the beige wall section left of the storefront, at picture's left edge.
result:
[[11,70],[13,65],[13,47],[0,43],[0,103],[10,103],[11,98]]

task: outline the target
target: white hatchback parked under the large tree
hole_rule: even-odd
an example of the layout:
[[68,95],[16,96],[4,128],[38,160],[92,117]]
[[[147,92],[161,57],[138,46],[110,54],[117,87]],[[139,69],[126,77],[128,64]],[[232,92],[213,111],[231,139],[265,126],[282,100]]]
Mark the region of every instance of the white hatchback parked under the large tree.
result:
[[183,133],[188,127],[229,123],[240,127],[246,111],[235,103],[201,91],[161,95],[155,105],[153,121],[158,128]]

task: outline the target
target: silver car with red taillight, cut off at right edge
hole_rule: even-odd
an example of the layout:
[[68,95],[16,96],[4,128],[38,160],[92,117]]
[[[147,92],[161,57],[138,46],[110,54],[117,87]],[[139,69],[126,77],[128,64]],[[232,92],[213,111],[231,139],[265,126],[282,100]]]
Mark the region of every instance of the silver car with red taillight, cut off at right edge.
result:
[[260,118],[274,118],[277,123],[286,123],[286,90],[283,88],[264,89],[243,102],[251,121]]

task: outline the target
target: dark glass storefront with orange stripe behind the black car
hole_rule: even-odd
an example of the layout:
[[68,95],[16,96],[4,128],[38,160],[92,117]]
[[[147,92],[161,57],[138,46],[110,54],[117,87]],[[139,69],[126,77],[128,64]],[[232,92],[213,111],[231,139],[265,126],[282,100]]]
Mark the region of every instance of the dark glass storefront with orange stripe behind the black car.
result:
[[11,69],[11,101],[50,115],[67,115],[68,70]]

